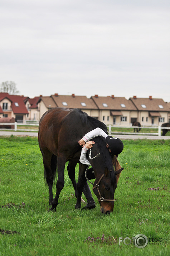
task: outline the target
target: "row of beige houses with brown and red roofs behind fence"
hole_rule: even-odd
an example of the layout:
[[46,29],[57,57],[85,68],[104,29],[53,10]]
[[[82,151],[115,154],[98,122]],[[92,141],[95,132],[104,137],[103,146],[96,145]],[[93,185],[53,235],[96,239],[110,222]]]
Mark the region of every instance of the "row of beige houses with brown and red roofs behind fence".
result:
[[114,95],[103,97],[94,95],[91,98],[77,95],[42,96],[29,98],[19,95],[0,93],[0,117],[14,117],[17,122],[27,120],[39,121],[50,108],[80,108],[106,125],[129,126],[139,121],[141,125],[161,125],[170,122],[170,102],[161,98],[137,98],[128,100]]

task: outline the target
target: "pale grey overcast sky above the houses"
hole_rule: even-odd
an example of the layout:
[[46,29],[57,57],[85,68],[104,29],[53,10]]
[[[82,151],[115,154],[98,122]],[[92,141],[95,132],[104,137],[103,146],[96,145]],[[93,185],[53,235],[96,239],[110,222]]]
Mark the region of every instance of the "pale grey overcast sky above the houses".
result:
[[0,0],[0,84],[170,101],[169,0]]

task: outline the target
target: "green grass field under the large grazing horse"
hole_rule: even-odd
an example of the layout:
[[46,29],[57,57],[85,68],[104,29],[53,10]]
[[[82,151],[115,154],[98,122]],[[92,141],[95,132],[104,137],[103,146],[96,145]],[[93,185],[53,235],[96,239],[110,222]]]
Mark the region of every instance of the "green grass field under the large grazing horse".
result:
[[[118,160],[125,169],[115,192],[115,208],[103,215],[94,194],[96,208],[75,210],[66,170],[57,211],[48,212],[38,139],[0,137],[0,256],[169,255],[170,141],[123,143]],[[123,243],[138,234],[147,236],[145,248],[137,248],[133,241]]]

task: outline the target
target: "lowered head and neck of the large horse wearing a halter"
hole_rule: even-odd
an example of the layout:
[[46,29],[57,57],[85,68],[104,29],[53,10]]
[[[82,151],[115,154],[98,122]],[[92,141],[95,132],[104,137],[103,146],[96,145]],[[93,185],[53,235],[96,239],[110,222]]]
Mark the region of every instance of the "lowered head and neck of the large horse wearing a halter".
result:
[[93,192],[101,206],[100,211],[109,214],[114,208],[114,195],[117,188],[116,175],[121,173],[123,169],[114,171],[112,157],[106,148],[105,139],[97,137],[94,140],[96,143],[93,145],[92,150],[88,150],[88,161],[91,163],[96,177]]

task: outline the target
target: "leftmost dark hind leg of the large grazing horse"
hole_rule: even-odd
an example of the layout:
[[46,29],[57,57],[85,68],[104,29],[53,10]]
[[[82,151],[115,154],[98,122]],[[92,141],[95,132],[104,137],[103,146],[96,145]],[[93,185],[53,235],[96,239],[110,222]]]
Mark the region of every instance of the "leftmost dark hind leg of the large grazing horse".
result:
[[52,204],[53,201],[53,181],[54,173],[52,172],[52,153],[49,151],[43,154],[43,164],[44,164],[44,178],[49,188],[49,204]]

